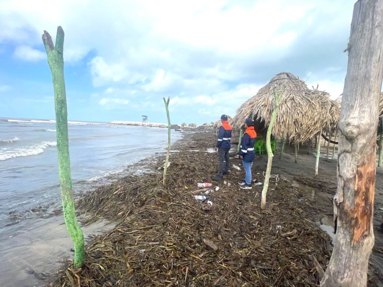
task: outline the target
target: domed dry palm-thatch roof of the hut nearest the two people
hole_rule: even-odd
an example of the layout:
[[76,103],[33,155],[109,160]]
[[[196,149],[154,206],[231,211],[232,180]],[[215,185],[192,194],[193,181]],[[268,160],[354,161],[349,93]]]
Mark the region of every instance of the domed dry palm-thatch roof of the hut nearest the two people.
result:
[[258,93],[237,109],[233,128],[239,129],[247,118],[254,117],[265,126],[270,124],[275,107],[273,89],[283,90],[272,135],[289,138],[293,142],[305,142],[322,128],[330,125],[331,101],[328,93],[309,90],[304,81],[291,73],[279,73]]

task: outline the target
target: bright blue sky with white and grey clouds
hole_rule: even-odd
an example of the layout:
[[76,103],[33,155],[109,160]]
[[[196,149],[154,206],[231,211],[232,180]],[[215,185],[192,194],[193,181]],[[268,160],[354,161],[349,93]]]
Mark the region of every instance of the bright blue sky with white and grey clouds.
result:
[[201,125],[280,72],[343,92],[351,0],[0,0],[0,117],[54,119],[41,40],[65,32],[68,119]]

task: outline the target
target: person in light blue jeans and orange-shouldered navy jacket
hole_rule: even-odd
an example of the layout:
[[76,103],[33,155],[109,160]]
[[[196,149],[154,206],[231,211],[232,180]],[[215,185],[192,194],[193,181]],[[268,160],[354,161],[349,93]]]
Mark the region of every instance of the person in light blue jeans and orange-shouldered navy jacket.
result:
[[257,133],[254,130],[254,121],[249,118],[245,121],[246,131],[241,140],[240,152],[238,153],[242,159],[242,165],[245,169],[245,180],[239,181],[238,185],[242,189],[251,189],[251,166],[255,158],[254,144]]

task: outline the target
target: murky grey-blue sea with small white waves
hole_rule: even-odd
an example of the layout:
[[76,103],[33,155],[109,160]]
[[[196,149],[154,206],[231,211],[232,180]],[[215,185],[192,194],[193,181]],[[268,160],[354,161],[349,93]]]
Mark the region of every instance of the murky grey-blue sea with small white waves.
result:
[[[68,130],[75,193],[111,182],[133,163],[167,148],[164,128],[69,122]],[[181,137],[172,131],[172,142]],[[46,226],[52,228],[58,220],[62,224],[60,214],[47,216],[60,206],[55,121],[0,118],[0,267],[11,273],[17,268],[23,278],[12,284],[2,275],[1,286],[31,286],[30,277],[38,279],[31,246],[41,244]],[[42,271],[44,265],[40,267]]]

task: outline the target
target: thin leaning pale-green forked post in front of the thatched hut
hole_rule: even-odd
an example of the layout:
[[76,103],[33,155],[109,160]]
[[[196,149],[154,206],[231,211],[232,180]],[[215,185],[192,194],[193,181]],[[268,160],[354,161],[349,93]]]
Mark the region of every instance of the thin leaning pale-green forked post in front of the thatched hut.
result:
[[262,209],[266,208],[266,194],[267,194],[267,189],[269,188],[271,164],[272,164],[273,156],[274,156],[273,152],[271,150],[271,141],[270,141],[271,132],[273,130],[276,115],[278,113],[279,99],[282,96],[282,94],[284,93],[284,87],[283,87],[283,90],[279,94],[276,92],[276,88],[274,88],[273,92],[274,92],[274,98],[275,98],[275,107],[274,107],[273,112],[271,113],[270,124],[269,124],[269,127],[267,128],[267,134],[266,134],[267,168],[266,168],[265,183],[264,183],[263,189],[262,189],[262,201],[261,201],[261,208]]

